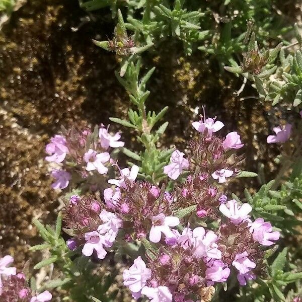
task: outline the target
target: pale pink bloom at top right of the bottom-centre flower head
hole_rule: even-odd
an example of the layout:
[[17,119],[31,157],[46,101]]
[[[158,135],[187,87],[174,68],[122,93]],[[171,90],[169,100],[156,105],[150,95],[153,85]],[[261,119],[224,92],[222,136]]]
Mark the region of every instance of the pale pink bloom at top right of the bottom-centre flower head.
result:
[[195,228],[192,232],[192,243],[194,246],[193,255],[196,258],[209,257],[220,259],[221,252],[218,250],[218,246],[215,243],[217,240],[218,236],[213,231],[205,233],[202,226]]

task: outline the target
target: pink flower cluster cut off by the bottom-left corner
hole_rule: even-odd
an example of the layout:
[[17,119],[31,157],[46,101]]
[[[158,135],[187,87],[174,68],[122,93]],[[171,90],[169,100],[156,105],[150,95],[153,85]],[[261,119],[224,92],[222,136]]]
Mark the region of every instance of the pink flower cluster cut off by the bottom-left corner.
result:
[[0,300],[1,302],[47,302],[52,295],[49,291],[34,293],[27,284],[23,273],[17,274],[15,267],[8,267],[14,261],[13,257],[0,259]]

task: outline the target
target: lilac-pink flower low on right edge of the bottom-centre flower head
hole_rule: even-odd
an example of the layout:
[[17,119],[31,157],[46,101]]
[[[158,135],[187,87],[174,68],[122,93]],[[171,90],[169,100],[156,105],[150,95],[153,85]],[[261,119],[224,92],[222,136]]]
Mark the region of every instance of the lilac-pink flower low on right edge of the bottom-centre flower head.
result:
[[230,268],[221,260],[210,260],[205,271],[207,285],[214,285],[214,282],[224,282],[230,276]]

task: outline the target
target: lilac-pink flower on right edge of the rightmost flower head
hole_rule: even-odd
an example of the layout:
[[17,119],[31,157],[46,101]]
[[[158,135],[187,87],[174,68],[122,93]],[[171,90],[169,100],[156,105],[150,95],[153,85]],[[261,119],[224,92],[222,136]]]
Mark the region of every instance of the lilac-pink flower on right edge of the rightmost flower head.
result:
[[270,222],[265,222],[263,218],[257,218],[250,224],[250,232],[253,233],[253,239],[264,246],[275,244],[272,240],[278,240],[280,233],[273,232]]

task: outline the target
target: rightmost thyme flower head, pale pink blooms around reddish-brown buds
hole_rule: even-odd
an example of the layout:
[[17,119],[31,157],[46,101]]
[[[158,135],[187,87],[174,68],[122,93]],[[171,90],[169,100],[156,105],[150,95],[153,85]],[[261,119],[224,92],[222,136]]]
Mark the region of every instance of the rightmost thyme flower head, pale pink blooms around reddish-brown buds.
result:
[[220,238],[217,242],[222,252],[222,261],[237,269],[237,279],[241,285],[255,279],[255,273],[261,274],[263,269],[263,247],[275,244],[280,233],[272,231],[270,222],[257,218],[254,222],[249,213],[252,207],[236,200],[221,204],[219,210],[228,217],[220,225]]

